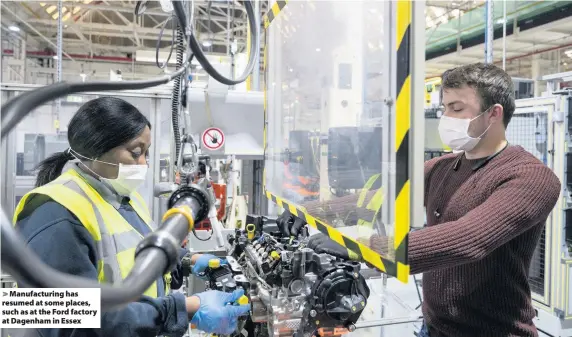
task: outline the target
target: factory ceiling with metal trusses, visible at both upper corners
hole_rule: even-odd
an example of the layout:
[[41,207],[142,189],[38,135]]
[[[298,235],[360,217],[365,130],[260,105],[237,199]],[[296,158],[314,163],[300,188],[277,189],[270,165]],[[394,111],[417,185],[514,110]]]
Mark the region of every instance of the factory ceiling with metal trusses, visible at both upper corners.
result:
[[[557,1],[556,1],[557,2]],[[133,58],[136,51],[154,51],[161,29],[164,27],[163,50],[168,51],[173,35],[173,18],[161,9],[159,1],[148,1],[146,11],[134,14],[137,1],[132,0],[77,0],[63,2],[63,52],[70,57],[100,56]],[[194,1],[195,29],[207,52],[225,55],[235,41],[237,51],[246,49],[247,22],[244,7],[237,0]],[[507,1],[507,24],[519,18],[541,11],[555,1]],[[563,3],[563,2],[561,2]],[[435,1],[426,2],[426,64],[427,77],[437,76],[444,70],[462,64],[482,61],[483,45],[464,47],[461,42],[467,36],[484,31],[484,1]],[[495,28],[502,26],[502,1],[495,1]],[[6,42],[14,38],[26,39],[28,54],[55,53],[57,42],[57,1],[2,1],[2,39],[4,54],[10,50]],[[268,10],[268,1],[260,2],[262,17]],[[532,13],[532,14],[531,14]],[[507,69],[523,76],[531,73],[533,54],[543,53],[551,65],[567,70],[567,60],[572,51],[572,23],[561,19],[514,33],[507,37]],[[453,41],[453,47],[450,42]],[[455,41],[459,42],[455,45]],[[484,41],[484,39],[483,39]],[[571,47],[572,48],[572,47]],[[503,44],[495,41],[495,61],[501,62]],[[552,53],[549,53],[552,52]],[[442,55],[440,55],[442,54]],[[548,55],[548,56],[547,56]],[[136,62],[137,60],[135,60]],[[572,60],[570,60],[572,61]],[[572,62],[570,62],[572,64]],[[499,63],[500,64],[500,63]]]

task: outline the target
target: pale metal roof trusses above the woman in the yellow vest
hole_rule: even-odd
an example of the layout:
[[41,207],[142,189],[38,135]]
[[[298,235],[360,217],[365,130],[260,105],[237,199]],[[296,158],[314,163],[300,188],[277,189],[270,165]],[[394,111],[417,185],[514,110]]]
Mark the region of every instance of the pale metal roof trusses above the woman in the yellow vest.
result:
[[[261,2],[257,6],[258,12],[260,14],[265,13],[268,9],[267,1],[257,2]],[[67,53],[83,54],[86,50],[92,50],[95,55],[98,55],[101,51],[134,53],[136,50],[151,50],[151,48],[143,48],[141,42],[148,40],[152,41],[154,45],[159,36],[161,25],[169,19],[171,13],[164,12],[161,8],[149,8],[141,17],[133,18],[132,14],[135,9],[133,3],[127,5],[116,5],[116,3],[119,2],[112,1],[100,4],[79,2],[73,5],[74,8],[79,9],[79,12],[74,13],[72,18],[64,22],[66,26],[69,26],[71,32],[75,33],[75,36],[63,39]],[[45,18],[48,15],[47,9],[52,5],[55,4],[48,2],[45,7],[40,7],[38,3],[3,3],[2,11],[4,12],[6,9],[8,20],[21,22],[22,30],[33,31],[38,36],[36,39],[40,40],[38,50],[41,50],[43,49],[42,43],[48,41],[54,45],[57,43],[53,34],[57,31],[58,20],[49,16],[47,19]],[[70,5],[64,4],[64,6],[71,10]],[[215,51],[224,53],[229,49],[228,38],[231,34],[236,35],[236,39],[239,41],[239,50],[245,48],[248,23],[244,6],[238,2],[227,2],[226,4],[214,2],[210,4],[210,11],[207,11],[209,4],[206,1],[195,1],[194,6],[193,21],[197,34],[210,38]],[[236,15],[231,24],[234,12]],[[114,15],[111,15],[112,13]],[[54,14],[57,14],[57,11],[51,12],[50,16]],[[170,27],[171,24],[168,24],[163,41],[171,38]],[[82,31],[89,32],[89,34],[84,34]],[[100,43],[92,43],[89,39],[91,35],[104,36],[106,39]]]

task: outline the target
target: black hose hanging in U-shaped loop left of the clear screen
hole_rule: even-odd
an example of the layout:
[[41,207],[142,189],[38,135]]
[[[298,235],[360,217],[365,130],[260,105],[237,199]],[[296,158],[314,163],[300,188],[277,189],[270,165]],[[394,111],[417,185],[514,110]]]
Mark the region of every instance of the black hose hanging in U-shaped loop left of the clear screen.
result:
[[[256,63],[256,60],[258,59],[258,55],[260,54],[260,27],[258,25],[257,15],[254,13],[254,8],[252,7],[252,1],[246,0],[243,1],[243,3],[248,17],[248,24],[250,26],[250,41],[252,41],[252,43],[250,44],[250,57],[248,59],[248,64],[246,65],[244,72],[242,73],[242,75],[239,76],[238,79],[233,80],[221,75],[207,59],[199,42],[195,38],[195,35],[192,32],[190,33],[190,35],[187,35],[188,39],[187,41],[189,41],[189,47],[193,52],[193,54],[195,55],[195,57],[197,58],[197,61],[199,61],[199,63],[203,67],[203,69],[215,80],[226,85],[235,85],[246,81],[246,79],[248,78],[248,76],[250,76],[250,73],[254,69],[254,65]],[[173,9],[175,11],[175,15],[177,16],[177,19],[179,20],[179,24],[183,29],[183,32],[189,32],[189,30],[187,29],[188,28],[187,15],[185,14],[183,2],[173,1]]]

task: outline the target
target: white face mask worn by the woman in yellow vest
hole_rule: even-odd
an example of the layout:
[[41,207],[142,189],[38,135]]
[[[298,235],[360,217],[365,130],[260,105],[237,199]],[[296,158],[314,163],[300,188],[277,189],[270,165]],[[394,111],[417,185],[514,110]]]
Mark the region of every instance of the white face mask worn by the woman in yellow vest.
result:
[[137,188],[139,188],[139,186],[145,183],[145,178],[147,176],[147,169],[148,169],[147,165],[114,164],[97,159],[86,158],[73,150],[70,150],[70,153],[76,158],[77,158],[76,155],[78,155],[79,157],[82,157],[84,159],[89,159],[108,165],[119,166],[119,170],[117,172],[117,178],[109,179],[98,175],[97,173],[93,172],[89,167],[83,165],[93,174],[98,176],[99,180],[101,180],[103,183],[111,186],[115,190],[115,192],[117,192],[117,194],[119,195],[129,196],[131,195],[131,193],[135,192]]

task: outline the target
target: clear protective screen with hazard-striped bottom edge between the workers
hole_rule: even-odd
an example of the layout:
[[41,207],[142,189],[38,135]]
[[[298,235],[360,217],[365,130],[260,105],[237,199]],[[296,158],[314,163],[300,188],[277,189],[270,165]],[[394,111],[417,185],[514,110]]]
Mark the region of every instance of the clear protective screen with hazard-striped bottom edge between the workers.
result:
[[398,76],[389,61],[397,42],[391,10],[388,2],[301,1],[274,19],[264,179],[272,201],[372,261],[380,253],[394,275],[395,143],[402,140],[392,136],[399,122],[383,100]]

